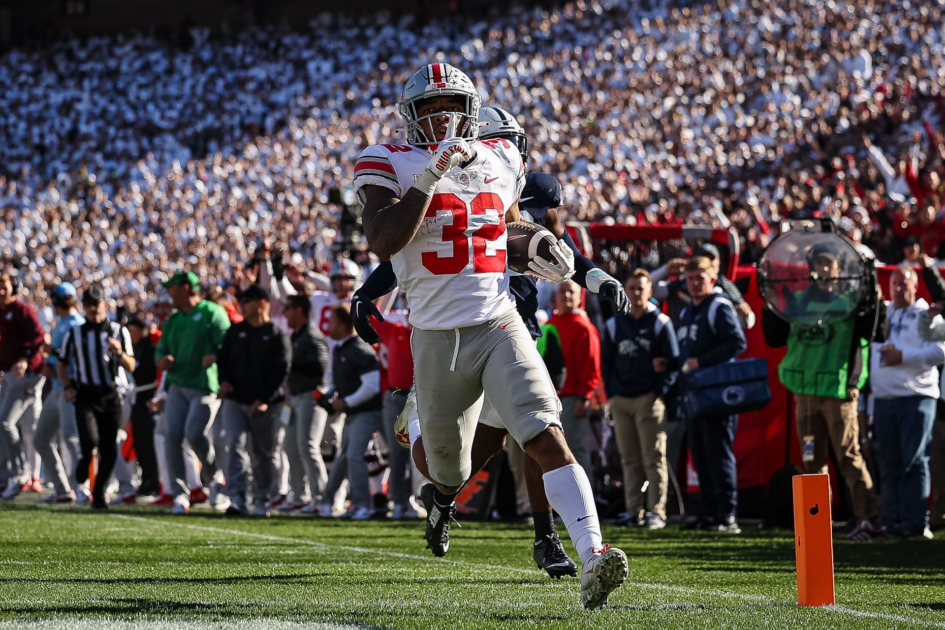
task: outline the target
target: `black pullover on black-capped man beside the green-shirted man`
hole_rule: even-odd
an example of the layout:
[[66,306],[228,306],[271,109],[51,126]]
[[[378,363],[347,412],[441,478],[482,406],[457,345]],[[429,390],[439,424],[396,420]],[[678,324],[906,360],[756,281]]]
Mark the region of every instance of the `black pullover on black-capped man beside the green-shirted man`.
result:
[[216,355],[220,383],[230,383],[230,400],[282,402],[292,363],[289,336],[274,323],[256,328],[245,321],[233,324]]

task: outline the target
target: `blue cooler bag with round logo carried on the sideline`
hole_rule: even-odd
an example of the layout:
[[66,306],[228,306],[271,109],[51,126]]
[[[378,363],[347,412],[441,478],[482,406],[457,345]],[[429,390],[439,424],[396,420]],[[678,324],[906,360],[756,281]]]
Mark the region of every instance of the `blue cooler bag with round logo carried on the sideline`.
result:
[[685,377],[682,408],[693,419],[757,411],[771,401],[765,359],[702,367]]

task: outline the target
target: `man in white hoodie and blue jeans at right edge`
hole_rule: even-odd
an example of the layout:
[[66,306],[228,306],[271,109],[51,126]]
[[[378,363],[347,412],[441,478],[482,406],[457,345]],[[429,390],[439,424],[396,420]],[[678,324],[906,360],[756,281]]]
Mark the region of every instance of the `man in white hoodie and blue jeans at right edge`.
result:
[[916,299],[918,282],[909,267],[890,276],[885,344],[873,344],[869,386],[883,480],[883,527],[898,536],[931,538],[929,446],[940,396],[937,366],[945,364],[945,344],[923,341],[919,333],[920,320],[928,321],[926,328],[945,329],[945,322],[937,315],[922,318],[929,305]]

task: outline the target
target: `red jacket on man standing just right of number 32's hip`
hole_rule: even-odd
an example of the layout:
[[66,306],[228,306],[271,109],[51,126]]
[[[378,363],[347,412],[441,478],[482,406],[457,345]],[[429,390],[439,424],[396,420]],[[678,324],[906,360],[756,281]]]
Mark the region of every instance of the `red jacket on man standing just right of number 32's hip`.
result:
[[583,311],[568,315],[555,313],[548,323],[558,329],[564,353],[564,384],[558,396],[590,398],[600,383],[600,337],[597,329]]

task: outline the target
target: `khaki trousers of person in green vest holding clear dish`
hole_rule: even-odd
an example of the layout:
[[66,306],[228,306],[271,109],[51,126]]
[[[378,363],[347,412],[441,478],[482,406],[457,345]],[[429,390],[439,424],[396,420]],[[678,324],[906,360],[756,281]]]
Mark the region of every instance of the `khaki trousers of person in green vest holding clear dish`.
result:
[[850,489],[853,514],[857,519],[868,520],[875,525],[879,509],[873,496],[873,480],[860,454],[857,400],[859,392],[856,390],[846,400],[796,394],[795,418],[801,443],[805,435],[814,436],[814,461],[804,462],[804,471],[807,474],[826,474],[830,458],[827,449],[828,446],[833,447],[840,474]]

